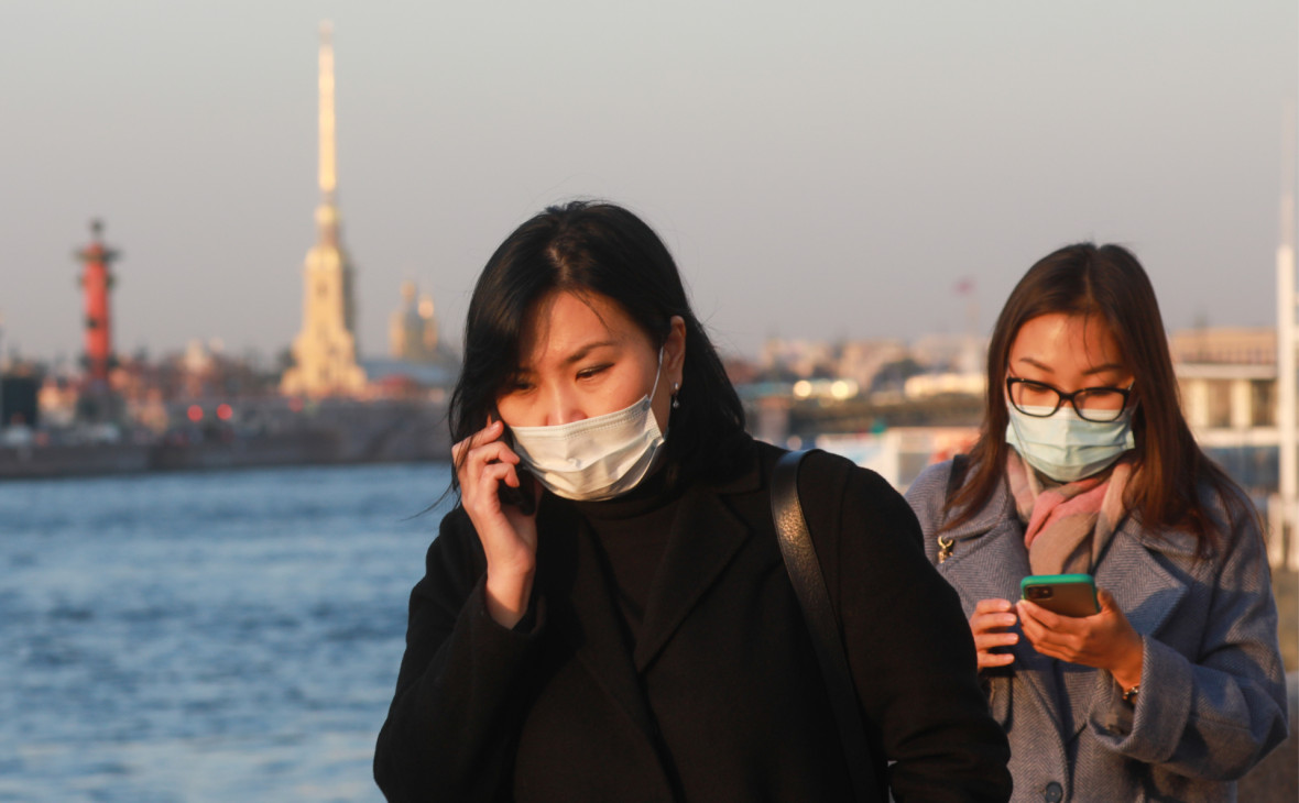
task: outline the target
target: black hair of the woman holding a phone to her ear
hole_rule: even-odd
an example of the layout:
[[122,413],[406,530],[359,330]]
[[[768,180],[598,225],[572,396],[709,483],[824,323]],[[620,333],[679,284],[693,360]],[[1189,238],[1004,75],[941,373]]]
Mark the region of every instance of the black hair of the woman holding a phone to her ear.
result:
[[609,298],[656,346],[666,341],[672,317],[681,315],[686,362],[665,448],[669,481],[687,466],[718,467],[721,444],[744,429],[739,397],[662,240],[637,215],[605,202],[551,206],[487,259],[465,319],[464,368],[451,396],[452,441],[486,425],[518,366],[529,311],[556,291]]

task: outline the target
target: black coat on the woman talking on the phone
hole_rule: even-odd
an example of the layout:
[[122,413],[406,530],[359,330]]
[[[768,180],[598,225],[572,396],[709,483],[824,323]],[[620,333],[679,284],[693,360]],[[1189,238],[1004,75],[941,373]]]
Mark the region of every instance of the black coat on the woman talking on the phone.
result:
[[[772,523],[781,450],[742,448],[739,476],[683,493],[634,651],[570,503],[542,499],[534,602],[512,630],[487,615],[468,515],[448,514],[410,594],[375,750],[388,799],[850,799]],[[976,680],[969,625],[911,509],[878,475],[824,453],[804,461],[799,493],[876,777],[899,802],[1007,799],[1009,752]]]

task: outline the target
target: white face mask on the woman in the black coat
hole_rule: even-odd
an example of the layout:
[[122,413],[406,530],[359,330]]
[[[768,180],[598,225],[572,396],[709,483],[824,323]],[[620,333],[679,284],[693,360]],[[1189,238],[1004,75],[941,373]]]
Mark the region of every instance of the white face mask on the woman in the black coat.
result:
[[511,427],[514,451],[551,493],[565,499],[612,499],[635,488],[664,444],[651,400],[659,389],[662,349],[653,388],[624,410],[553,427]]

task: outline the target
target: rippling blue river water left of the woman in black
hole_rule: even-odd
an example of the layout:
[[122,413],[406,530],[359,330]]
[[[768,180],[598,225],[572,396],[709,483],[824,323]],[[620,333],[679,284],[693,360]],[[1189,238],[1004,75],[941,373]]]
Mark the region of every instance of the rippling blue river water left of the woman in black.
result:
[[382,800],[444,464],[0,483],[0,800]]

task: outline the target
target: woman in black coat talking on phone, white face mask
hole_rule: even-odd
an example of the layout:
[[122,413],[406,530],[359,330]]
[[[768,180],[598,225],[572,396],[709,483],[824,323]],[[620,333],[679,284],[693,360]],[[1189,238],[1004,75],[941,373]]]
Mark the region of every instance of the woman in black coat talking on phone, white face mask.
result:
[[798,490],[868,750],[846,756],[744,415],[666,248],[552,208],[488,261],[452,397],[460,503],[410,595],[391,800],[1003,800],[952,590],[877,475]]

